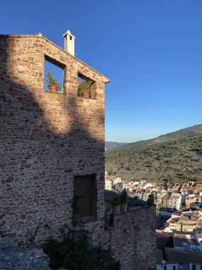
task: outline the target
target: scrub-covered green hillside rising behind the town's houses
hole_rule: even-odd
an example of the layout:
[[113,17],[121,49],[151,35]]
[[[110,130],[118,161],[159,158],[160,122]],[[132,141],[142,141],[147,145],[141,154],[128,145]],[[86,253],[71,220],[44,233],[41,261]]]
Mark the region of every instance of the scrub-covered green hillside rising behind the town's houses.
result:
[[124,180],[202,181],[202,124],[108,150],[106,171]]

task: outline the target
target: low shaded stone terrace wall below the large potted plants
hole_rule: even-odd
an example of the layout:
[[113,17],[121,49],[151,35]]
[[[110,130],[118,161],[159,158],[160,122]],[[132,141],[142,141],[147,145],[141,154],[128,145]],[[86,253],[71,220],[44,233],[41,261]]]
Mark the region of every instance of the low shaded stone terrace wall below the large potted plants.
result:
[[138,206],[128,212],[114,215],[113,226],[91,223],[86,229],[92,232],[96,244],[109,248],[120,269],[146,270],[156,264],[155,206]]

